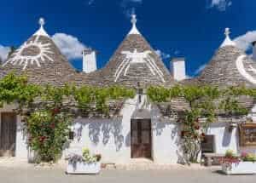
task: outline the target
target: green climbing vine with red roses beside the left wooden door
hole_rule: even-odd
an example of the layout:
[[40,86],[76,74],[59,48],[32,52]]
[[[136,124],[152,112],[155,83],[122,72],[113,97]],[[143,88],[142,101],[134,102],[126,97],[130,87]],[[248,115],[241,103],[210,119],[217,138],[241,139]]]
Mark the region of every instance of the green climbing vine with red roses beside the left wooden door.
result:
[[38,162],[55,161],[61,155],[75,111],[95,109],[108,117],[110,100],[118,102],[134,95],[133,89],[119,86],[38,86],[28,83],[26,76],[13,73],[0,80],[0,105],[17,106],[15,111],[23,118],[29,146],[36,152]]

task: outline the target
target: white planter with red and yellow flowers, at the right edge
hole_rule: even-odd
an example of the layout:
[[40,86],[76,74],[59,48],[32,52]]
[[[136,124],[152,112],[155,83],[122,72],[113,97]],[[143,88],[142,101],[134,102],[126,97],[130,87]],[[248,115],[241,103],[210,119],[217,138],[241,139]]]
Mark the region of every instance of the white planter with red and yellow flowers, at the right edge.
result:
[[246,152],[236,157],[233,152],[226,152],[222,170],[224,174],[256,174],[256,155]]

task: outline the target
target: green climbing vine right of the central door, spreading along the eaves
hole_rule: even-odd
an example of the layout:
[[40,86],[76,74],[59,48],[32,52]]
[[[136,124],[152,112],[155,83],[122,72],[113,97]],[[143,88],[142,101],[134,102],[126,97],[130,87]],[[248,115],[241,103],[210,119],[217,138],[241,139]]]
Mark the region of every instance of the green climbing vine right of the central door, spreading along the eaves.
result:
[[[231,87],[218,89],[210,86],[175,86],[171,89],[149,87],[148,98],[154,103],[171,102],[183,98],[189,108],[183,111],[177,122],[181,123],[183,152],[187,163],[197,162],[201,152],[201,140],[204,139],[209,123],[214,122],[218,114],[247,115],[248,110],[239,102],[239,97],[255,98],[256,89]],[[205,119],[200,123],[200,118]]]

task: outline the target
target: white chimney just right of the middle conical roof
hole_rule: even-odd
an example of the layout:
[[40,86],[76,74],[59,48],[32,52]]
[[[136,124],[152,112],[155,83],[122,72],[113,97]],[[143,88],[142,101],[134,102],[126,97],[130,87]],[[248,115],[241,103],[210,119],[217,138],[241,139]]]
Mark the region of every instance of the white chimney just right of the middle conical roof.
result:
[[172,76],[177,81],[186,79],[186,66],[184,58],[172,59]]

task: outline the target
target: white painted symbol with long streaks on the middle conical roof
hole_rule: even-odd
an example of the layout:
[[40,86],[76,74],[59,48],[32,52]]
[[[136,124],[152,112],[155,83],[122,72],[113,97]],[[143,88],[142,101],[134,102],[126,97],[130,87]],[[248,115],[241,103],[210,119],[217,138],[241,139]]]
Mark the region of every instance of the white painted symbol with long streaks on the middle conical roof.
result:
[[160,77],[162,82],[165,82],[164,74],[160,71],[160,68],[155,64],[154,59],[150,56],[151,51],[144,51],[142,53],[137,52],[137,49],[131,51],[122,51],[125,55],[125,59],[121,62],[114,74],[114,82],[117,82],[121,73],[124,71],[124,76],[127,76],[127,71],[129,71],[131,64],[143,63],[148,66],[148,69],[154,76]]

